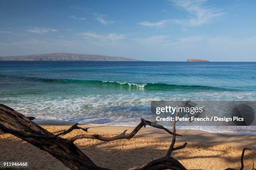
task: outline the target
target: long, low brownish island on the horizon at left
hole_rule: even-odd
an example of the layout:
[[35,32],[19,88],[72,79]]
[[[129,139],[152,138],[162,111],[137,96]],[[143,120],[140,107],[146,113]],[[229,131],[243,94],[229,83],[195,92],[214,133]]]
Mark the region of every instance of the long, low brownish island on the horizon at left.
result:
[[106,55],[52,53],[36,55],[15,55],[0,57],[2,61],[139,61],[126,57],[110,57]]

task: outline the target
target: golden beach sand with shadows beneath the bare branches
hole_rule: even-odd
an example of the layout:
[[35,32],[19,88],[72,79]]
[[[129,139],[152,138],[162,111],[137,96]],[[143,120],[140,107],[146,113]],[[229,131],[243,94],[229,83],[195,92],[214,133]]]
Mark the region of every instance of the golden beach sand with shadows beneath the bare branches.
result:
[[[42,125],[50,132],[60,132],[68,129],[69,125]],[[95,127],[93,125],[81,125],[82,127]],[[112,136],[133,127],[102,126],[90,128],[87,134],[99,134]],[[85,133],[74,130],[65,135],[70,138],[74,135]],[[182,150],[172,153],[190,170],[224,170],[225,168],[239,169],[242,149],[248,147],[244,157],[244,170],[251,170],[253,161],[256,163],[256,135],[230,135],[204,133],[195,130],[177,130],[184,135],[177,137],[176,145],[187,142]],[[115,170],[129,170],[141,167],[151,160],[160,158],[166,154],[172,136],[162,130],[148,127],[143,128],[130,140],[115,140],[102,142],[99,140],[81,139],[75,144],[83,150],[97,165]],[[35,146],[26,143],[10,134],[0,135],[0,160],[28,161],[33,170],[68,170],[59,160],[49,153],[39,150]]]

